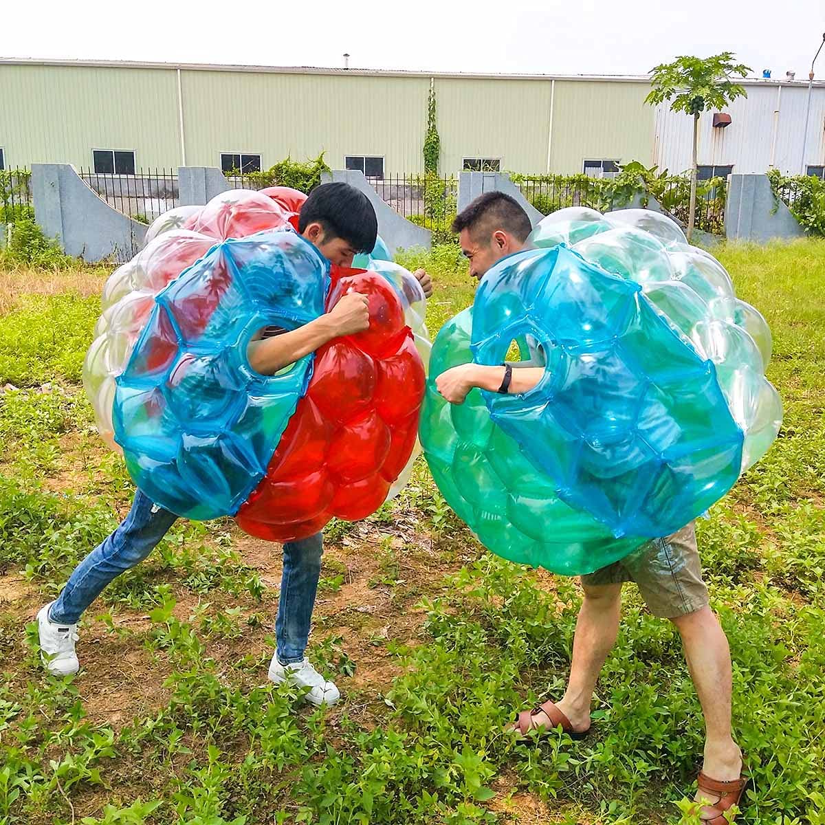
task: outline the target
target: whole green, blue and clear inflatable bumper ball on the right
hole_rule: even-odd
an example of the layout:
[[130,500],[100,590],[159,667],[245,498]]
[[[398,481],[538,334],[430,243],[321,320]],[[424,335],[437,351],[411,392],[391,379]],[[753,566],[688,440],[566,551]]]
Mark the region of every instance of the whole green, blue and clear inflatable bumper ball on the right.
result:
[[[589,573],[685,526],[765,454],[782,416],[771,333],[661,214],[559,210],[530,243],[436,338],[420,436],[488,549]],[[546,365],[530,392],[438,394],[445,370],[527,340]]]

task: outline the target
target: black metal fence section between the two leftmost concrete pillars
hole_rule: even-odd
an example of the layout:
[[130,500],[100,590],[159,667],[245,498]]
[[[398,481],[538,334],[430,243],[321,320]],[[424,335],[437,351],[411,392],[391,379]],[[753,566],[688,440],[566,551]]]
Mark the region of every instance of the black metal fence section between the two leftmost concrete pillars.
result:
[[81,168],[80,177],[113,209],[143,224],[180,205],[177,173],[172,169],[140,169],[134,175],[101,175]]

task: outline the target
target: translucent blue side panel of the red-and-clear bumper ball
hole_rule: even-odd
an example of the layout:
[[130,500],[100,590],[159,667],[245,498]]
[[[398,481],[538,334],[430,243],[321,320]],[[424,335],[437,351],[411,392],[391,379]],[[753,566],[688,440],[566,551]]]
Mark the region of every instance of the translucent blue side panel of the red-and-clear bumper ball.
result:
[[[323,314],[328,263],[295,233],[275,230],[257,240],[254,250],[232,240],[214,247],[163,290],[116,379],[115,440],[134,482],[144,492],[154,489],[153,500],[181,516],[238,510],[266,474],[309,380],[311,356],[285,373],[263,376],[248,365],[246,344],[266,323],[292,322],[271,301],[279,283],[282,295],[302,296],[309,320]],[[259,266],[269,265],[271,290],[249,289],[236,246],[253,280]],[[294,314],[288,298],[285,304]],[[256,405],[270,402],[270,415],[257,420],[260,430],[250,427],[251,398]]]

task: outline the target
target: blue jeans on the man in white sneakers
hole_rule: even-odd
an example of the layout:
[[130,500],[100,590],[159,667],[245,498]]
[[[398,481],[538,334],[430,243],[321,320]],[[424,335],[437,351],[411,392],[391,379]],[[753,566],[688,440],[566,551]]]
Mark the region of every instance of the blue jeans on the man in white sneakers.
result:
[[[83,610],[120,573],[142,562],[177,521],[174,513],[154,504],[137,490],[128,516],[74,569],[51,606],[49,618],[74,625]],[[321,573],[323,535],[284,544],[284,573],[275,625],[276,651],[281,664],[300,662],[309,639],[309,625]]]

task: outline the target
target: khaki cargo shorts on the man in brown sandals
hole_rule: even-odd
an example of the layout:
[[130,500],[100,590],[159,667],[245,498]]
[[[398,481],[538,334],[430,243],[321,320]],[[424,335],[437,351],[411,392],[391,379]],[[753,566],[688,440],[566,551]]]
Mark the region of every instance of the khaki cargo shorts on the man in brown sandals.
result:
[[675,619],[708,604],[694,523],[654,539],[629,556],[582,576],[582,584],[636,582],[653,615]]

